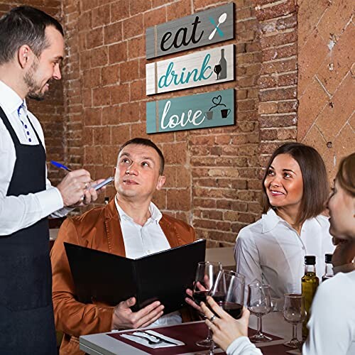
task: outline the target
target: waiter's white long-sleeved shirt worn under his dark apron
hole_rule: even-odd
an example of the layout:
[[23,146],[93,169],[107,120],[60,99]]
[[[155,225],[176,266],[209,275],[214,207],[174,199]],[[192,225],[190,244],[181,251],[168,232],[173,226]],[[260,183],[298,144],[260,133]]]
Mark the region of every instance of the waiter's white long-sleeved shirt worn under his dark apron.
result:
[[[23,123],[28,126],[27,130],[30,131],[31,142],[28,141],[21,120],[18,118],[17,109],[21,103],[21,97],[0,80],[0,106],[9,119],[18,140],[21,144],[36,145],[38,140],[27,117],[23,117]],[[26,102],[24,109],[27,111]],[[38,119],[30,111],[27,111],[27,114],[40,137],[43,147],[45,147],[43,131]],[[70,211],[70,209],[62,208],[62,195],[56,187],[50,184],[48,179],[46,180],[46,190],[35,194],[7,197],[6,193],[11,182],[15,161],[15,146],[4,122],[0,119],[0,236],[6,236],[31,226],[49,215],[62,217]],[[45,174],[47,177],[47,170]],[[26,176],[23,178],[26,179]]]

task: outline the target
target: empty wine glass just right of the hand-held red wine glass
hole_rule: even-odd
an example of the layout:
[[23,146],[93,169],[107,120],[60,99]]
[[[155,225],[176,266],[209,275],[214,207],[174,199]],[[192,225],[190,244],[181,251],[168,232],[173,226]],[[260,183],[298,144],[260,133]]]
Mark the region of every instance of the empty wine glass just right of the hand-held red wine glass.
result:
[[263,334],[263,324],[261,322],[261,317],[273,310],[270,297],[270,286],[261,283],[251,283],[248,288],[248,309],[253,315],[258,317],[258,332],[249,339],[253,343],[271,342],[273,339]]

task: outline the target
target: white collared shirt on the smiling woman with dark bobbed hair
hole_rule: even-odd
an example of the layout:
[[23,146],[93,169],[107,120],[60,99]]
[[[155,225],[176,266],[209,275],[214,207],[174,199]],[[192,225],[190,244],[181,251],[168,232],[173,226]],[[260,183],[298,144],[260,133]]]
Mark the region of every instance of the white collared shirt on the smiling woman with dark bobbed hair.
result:
[[270,209],[257,222],[241,229],[234,251],[236,271],[246,277],[246,289],[256,280],[270,285],[271,297],[282,309],[285,293],[301,293],[305,255],[316,256],[316,273],[321,280],[324,254],[332,253],[334,245],[327,217],[307,219],[299,235]]

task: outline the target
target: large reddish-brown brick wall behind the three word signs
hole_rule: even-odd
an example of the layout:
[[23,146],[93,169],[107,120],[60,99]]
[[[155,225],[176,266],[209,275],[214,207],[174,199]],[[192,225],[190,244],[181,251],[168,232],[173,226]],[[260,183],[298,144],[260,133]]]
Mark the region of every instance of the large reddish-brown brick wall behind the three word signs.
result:
[[[225,2],[63,1],[70,166],[106,177],[119,145],[147,136],[146,102],[154,97],[145,94],[146,28]],[[229,43],[236,45],[236,81],[158,98],[234,87],[236,125],[148,136],[167,160],[167,182],[155,202],[193,224],[209,246],[233,245],[241,227],[260,217],[259,155],[263,163],[280,142],[296,138],[295,2],[234,3],[236,39]]]

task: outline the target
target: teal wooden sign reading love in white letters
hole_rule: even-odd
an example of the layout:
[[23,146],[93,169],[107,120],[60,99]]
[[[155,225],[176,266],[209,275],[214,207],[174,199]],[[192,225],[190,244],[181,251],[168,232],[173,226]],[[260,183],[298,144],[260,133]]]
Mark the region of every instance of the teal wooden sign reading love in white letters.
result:
[[147,133],[234,124],[234,89],[147,102]]

